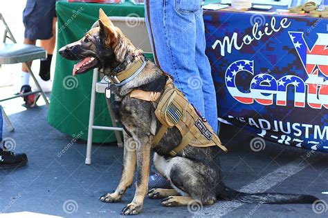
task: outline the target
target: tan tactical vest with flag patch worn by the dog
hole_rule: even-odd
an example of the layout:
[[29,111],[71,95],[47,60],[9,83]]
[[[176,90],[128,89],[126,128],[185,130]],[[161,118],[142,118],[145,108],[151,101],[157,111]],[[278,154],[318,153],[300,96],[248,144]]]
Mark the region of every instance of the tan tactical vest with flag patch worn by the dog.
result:
[[152,148],[156,148],[168,128],[176,126],[181,132],[182,140],[179,146],[170,152],[170,155],[175,156],[188,145],[195,147],[219,146],[227,152],[226,147],[221,144],[219,137],[206,119],[197,113],[183,92],[174,86],[171,78],[167,80],[162,94],[161,92],[133,90],[130,97],[152,101],[154,104],[156,118],[162,126],[154,138]]

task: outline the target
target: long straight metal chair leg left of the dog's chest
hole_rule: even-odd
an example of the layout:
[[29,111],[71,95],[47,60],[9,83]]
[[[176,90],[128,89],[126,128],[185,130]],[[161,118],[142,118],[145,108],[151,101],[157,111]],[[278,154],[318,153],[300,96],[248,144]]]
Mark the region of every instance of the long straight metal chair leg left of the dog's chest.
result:
[[88,141],[86,142],[86,157],[85,164],[91,164],[91,151],[92,151],[92,134],[93,134],[93,118],[95,115],[95,83],[98,81],[98,68],[93,70],[92,88],[91,88],[91,101],[90,101],[90,115],[88,127]]

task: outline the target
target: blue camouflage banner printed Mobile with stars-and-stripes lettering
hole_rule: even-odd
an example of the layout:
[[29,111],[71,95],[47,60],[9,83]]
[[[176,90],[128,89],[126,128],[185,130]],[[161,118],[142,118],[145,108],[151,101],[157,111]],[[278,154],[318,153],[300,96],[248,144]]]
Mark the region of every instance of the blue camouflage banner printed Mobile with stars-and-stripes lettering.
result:
[[219,117],[328,152],[328,19],[205,11]]

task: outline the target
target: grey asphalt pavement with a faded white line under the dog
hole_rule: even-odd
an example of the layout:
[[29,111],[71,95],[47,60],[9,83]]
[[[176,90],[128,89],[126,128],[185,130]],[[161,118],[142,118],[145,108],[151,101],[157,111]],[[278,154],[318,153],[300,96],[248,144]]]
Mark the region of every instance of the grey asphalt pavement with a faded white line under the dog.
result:
[[[120,210],[133,199],[135,188],[131,187],[120,203],[104,204],[98,197],[115,190],[118,184],[122,148],[116,143],[94,145],[93,164],[84,165],[86,142],[75,141],[48,125],[47,110],[46,106],[40,106],[12,113],[10,119],[15,132],[8,132],[4,126],[3,137],[14,139],[15,152],[26,152],[29,163],[17,170],[0,170],[0,217],[12,212],[118,217]],[[233,126],[222,126],[220,137],[229,150],[220,154],[228,186],[248,192],[315,195],[322,200],[323,209],[311,204],[232,201],[218,201],[212,206],[165,208],[159,200],[146,197],[137,217],[328,217],[328,195],[322,194],[328,191],[328,154],[268,141],[262,148],[252,149],[253,137]]]

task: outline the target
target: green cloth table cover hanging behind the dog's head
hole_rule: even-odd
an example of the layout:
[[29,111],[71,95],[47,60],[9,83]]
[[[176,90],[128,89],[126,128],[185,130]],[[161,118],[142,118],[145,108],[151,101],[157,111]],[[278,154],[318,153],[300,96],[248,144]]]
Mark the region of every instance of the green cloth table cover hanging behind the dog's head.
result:
[[[120,5],[98,3],[57,2],[57,49],[77,41],[98,20],[99,9],[109,16],[127,17],[129,14],[145,16],[144,6],[135,6],[125,2]],[[48,111],[48,123],[57,130],[80,139],[87,139],[89,109],[91,97],[92,72],[72,77],[73,65],[57,55],[51,105]],[[97,93],[95,102],[94,125],[111,126],[104,95]],[[81,134],[82,133],[82,134]],[[113,132],[93,130],[93,142],[116,141]]]

